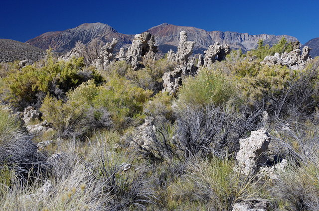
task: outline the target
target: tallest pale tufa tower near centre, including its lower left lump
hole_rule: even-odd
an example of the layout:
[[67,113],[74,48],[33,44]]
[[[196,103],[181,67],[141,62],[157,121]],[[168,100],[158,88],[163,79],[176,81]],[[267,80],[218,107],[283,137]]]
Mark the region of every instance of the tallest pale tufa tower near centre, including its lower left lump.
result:
[[163,75],[163,92],[175,95],[178,88],[182,85],[182,76],[195,75],[197,67],[195,66],[195,58],[188,60],[193,53],[195,42],[187,41],[186,31],[180,32],[180,41],[177,52],[172,50],[167,53],[167,60],[177,64],[173,71],[164,73]]

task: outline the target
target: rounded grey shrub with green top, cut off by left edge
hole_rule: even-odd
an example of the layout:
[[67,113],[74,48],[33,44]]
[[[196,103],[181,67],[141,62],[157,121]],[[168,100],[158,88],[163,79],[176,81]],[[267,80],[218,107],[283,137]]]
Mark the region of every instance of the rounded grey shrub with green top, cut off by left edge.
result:
[[0,109],[0,172],[2,182],[0,189],[11,185],[10,176],[19,181],[28,181],[42,175],[48,167],[46,156],[37,152],[31,136],[22,128],[19,119],[7,109]]

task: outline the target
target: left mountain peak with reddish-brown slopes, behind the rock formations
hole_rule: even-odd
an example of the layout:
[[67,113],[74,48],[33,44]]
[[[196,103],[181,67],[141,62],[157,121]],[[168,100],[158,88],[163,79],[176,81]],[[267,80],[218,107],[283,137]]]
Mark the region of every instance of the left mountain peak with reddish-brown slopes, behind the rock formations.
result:
[[121,34],[108,24],[84,23],[65,31],[46,32],[26,41],[26,43],[42,49],[51,47],[56,52],[66,52],[71,50],[78,40],[87,44],[94,38],[103,42],[111,42],[114,37],[119,40],[117,44],[118,48],[122,46],[126,47],[134,39],[134,35]]

